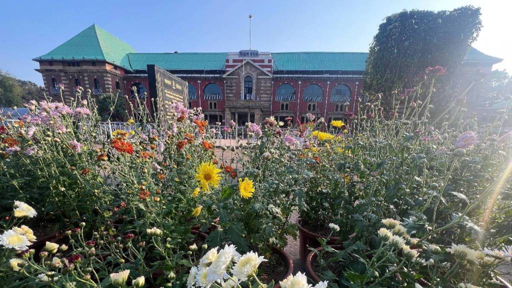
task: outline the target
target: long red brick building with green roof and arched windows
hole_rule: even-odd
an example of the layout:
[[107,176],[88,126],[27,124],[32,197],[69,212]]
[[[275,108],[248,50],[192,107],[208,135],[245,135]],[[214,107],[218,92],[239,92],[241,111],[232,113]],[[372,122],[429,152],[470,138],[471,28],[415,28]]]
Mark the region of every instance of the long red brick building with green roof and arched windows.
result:
[[[473,48],[472,48],[473,49]],[[475,49],[476,51],[476,49]],[[312,113],[326,120],[346,119],[363,94],[368,53],[283,52],[242,50],[229,53],[137,53],[96,25],[88,27],[49,53],[34,58],[44,85],[66,100],[74,88],[93,94],[120,90],[135,105],[132,87],[151,109],[146,65],[155,64],[188,83],[189,108],[202,107],[210,124],[230,120],[261,122],[275,116],[306,121]],[[471,65],[492,67],[497,58],[473,53]]]

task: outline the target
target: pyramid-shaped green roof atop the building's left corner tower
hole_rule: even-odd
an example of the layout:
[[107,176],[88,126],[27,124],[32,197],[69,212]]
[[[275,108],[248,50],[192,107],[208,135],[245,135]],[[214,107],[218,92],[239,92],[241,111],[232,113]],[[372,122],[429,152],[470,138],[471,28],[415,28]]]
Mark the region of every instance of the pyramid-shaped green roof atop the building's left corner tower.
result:
[[131,70],[127,54],[135,52],[123,40],[95,24],[34,60],[105,60]]

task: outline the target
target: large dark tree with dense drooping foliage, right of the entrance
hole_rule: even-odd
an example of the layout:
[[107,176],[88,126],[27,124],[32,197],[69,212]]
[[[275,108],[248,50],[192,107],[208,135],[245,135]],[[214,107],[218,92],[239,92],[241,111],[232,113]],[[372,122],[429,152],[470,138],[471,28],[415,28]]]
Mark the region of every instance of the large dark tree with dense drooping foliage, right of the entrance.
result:
[[432,102],[439,105],[450,101],[455,92],[440,88],[457,86],[449,83],[457,78],[480,28],[480,8],[473,6],[438,12],[404,10],[386,17],[370,46],[366,93],[382,93],[390,108],[393,91],[414,87],[424,79],[426,68],[442,66],[447,75],[438,77]]

